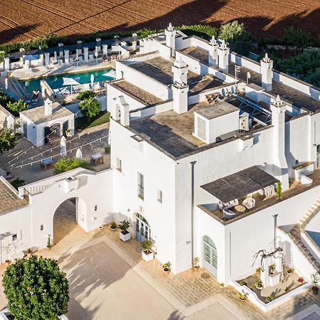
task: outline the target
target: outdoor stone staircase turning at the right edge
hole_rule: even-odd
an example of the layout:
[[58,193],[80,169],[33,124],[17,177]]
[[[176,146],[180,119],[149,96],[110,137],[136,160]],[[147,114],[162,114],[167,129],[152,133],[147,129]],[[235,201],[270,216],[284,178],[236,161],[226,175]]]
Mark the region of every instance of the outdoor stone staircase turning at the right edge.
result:
[[306,224],[309,222],[311,218],[318,213],[320,209],[320,199],[314,203],[314,205],[309,208],[306,214],[299,220],[297,225],[294,225],[294,228],[290,230],[289,236],[292,238],[295,245],[297,245],[298,249],[304,254],[306,259],[311,263],[315,270],[318,270],[320,274],[320,264],[316,261],[313,255],[306,248],[304,243],[301,240],[301,233],[304,232],[304,228]]

